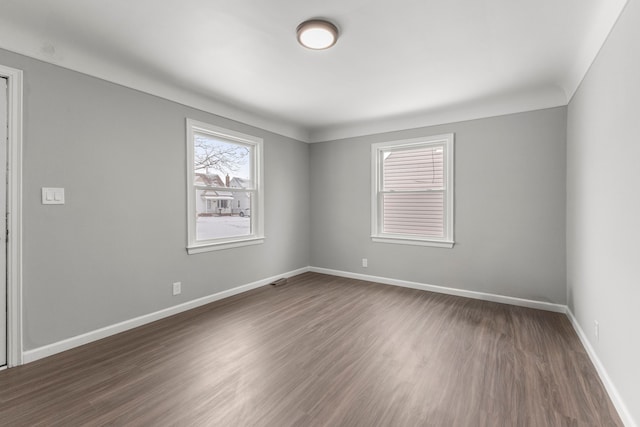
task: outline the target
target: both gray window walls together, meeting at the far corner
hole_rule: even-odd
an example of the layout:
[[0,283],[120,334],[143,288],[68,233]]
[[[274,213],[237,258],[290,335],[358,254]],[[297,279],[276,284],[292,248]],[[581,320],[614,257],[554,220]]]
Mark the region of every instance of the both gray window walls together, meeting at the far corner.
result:
[[[25,71],[25,350],[307,265],[565,302],[564,108],[309,146],[6,51],[0,63]],[[265,139],[264,245],[186,254],[185,117]],[[446,132],[455,248],[373,244],[371,143]],[[43,186],[67,203],[41,205]]]

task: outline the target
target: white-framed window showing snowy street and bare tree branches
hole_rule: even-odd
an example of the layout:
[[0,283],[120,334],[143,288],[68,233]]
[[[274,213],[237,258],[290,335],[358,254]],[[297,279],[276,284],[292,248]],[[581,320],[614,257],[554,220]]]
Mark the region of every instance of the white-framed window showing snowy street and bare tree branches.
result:
[[187,251],[263,243],[262,139],[187,119]]

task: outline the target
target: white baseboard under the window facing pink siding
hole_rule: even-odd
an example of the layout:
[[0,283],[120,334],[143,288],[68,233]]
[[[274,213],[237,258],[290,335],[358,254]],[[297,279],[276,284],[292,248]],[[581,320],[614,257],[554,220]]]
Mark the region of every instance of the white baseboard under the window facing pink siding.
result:
[[537,308],[539,310],[553,311],[556,313],[566,313],[567,306],[562,304],[554,304],[544,301],[535,301],[524,298],[507,297],[497,294],[488,294],[484,292],[468,291],[464,289],[447,288],[445,286],[427,285],[418,282],[409,282],[406,280],[390,279],[388,277],[369,276],[360,273],[351,273],[348,271],[331,270],[328,268],[310,267],[309,271],[316,273],[330,274],[332,276],[346,277],[349,279],[366,280],[369,282],[383,283],[385,285],[401,286],[404,288],[420,289],[423,291],[437,292],[439,294],[456,295],[460,297],[479,299],[483,301],[499,302],[502,304],[516,305],[520,307]]

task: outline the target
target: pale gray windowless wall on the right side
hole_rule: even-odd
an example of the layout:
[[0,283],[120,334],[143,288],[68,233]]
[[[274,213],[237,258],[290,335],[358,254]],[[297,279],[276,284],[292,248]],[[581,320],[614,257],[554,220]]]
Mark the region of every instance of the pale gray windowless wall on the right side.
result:
[[[640,4],[631,0],[569,104],[568,305],[640,423]],[[595,337],[594,321],[600,323]]]

